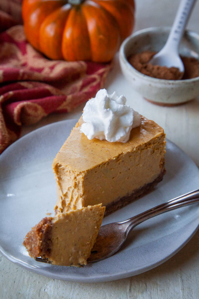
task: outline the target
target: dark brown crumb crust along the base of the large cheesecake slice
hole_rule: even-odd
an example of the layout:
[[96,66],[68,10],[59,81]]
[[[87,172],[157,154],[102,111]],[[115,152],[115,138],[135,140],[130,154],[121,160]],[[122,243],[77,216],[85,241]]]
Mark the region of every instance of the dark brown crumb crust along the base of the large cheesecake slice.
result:
[[161,170],[160,175],[153,182],[146,184],[139,189],[134,190],[133,193],[130,195],[124,196],[120,199],[115,200],[115,202],[108,204],[106,206],[104,216],[123,208],[124,206],[128,205],[129,203],[139,199],[141,196],[148,193],[150,190],[152,190],[155,187],[155,185],[157,185],[160,181],[162,181],[165,173],[166,170],[165,168],[163,168]]

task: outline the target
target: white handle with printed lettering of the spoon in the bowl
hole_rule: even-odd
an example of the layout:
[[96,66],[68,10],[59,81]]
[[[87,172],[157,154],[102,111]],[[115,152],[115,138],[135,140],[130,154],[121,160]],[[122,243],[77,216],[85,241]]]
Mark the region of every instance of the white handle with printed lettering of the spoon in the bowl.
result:
[[173,49],[178,51],[179,43],[183,36],[184,29],[186,27],[195,2],[196,0],[181,0],[164,48],[172,47]]

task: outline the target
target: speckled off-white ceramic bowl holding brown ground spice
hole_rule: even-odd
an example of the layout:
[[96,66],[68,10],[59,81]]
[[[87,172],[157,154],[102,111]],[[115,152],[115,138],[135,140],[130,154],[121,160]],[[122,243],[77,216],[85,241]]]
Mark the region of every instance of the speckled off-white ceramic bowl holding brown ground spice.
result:
[[[130,54],[142,51],[160,51],[169,35],[169,27],[152,27],[135,32],[121,45],[119,60],[121,70],[132,88],[147,100],[159,105],[177,105],[199,95],[199,77],[187,80],[156,79],[137,71],[128,62]],[[199,34],[186,30],[181,40],[182,56],[199,58]]]

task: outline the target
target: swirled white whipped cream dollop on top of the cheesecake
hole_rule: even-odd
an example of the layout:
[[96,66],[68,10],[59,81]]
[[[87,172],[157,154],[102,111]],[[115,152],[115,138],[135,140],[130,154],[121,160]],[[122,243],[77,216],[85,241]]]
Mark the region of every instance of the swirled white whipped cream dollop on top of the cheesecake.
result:
[[124,95],[118,97],[115,92],[108,94],[106,89],[100,89],[84,107],[80,131],[90,140],[127,142],[131,129],[141,124],[141,117],[126,101]]

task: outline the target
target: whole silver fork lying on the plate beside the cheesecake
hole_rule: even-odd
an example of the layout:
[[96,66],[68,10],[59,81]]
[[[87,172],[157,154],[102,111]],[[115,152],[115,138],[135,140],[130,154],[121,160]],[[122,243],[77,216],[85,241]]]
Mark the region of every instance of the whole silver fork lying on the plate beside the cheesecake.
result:
[[101,226],[87,262],[98,262],[116,253],[126,241],[129,232],[145,220],[196,202],[199,202],[199,189],[171,199],[127,220]]

